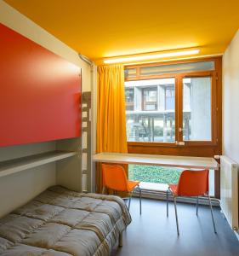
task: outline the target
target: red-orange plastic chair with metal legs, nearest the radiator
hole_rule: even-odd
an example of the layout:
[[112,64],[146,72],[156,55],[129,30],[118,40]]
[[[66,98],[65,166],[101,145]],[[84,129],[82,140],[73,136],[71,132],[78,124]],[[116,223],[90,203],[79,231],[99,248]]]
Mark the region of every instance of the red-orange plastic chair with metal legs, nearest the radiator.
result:
[[168,192],[171,192],[174,196],[174,209],[177,224],[177,231],[179,236],[179,221],[177,213],[176,198],[178,196],[196,196],[196,215],[198,214],[198,196],[207,195],[209,200],[209,206],[213,219],[214,232],[217,233],[213,218],[213,207],[211,199],[208,193],[208,170],[202,171],[188,171],[185,170],[179,177],[179,183],[169,184],[167,190],[167,217],[168,217]]

